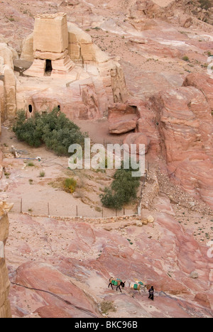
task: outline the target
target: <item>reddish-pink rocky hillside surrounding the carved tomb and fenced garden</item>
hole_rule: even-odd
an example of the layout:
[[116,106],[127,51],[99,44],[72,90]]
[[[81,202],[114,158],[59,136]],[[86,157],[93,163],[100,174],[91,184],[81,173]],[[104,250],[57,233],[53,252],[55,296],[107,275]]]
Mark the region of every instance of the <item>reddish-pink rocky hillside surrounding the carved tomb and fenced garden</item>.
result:
[[[6,243],[13,317],[212,318],[212,1],[8,0],[1,1],[0,10],[0,43],[8,43],[11,59],[27,53],[30,40],[32,60],[33,16],[65,12],[90,44],[119,62],[126,102],[109,105],[109,121],[76,122],[94,143],[131,144],[139,137],[146,142],[148,165],[138,194],[141,216],[101,218],[97,193],[113,175],[96,173],[94,180],[84,172],[78,195],[50,187],[53,179],[65,177],[67,159],[55,160],[45,148],[18,142],[12,123],[3,123],[0,198],[16,199]],[[13,72],[12,67],[11,61]],[[18,72],[13,78],[21,101],[28,78]],[[35,82],[37,78],[31,89]],[[76,92],[80,94],[78,85]],[[23,155],[41,154],[45,162],[28,167],[15,160],[12,144]],[[40,170],[45,177],[39,177]],[[22,198],[25,213],[19,214]],[[57,214],[48,216],[47,199]],[[69,217],[76,206],[87,218]],[[1,220],[0,241],[5,243],[4,212]],[[126,280],[121,294],[108,288],[109,277]],[[129,287],[136,280],[153,284],[154,302],[146,289]],[[8,292],[6,265],[0,258],[0,316],[11,314]]]

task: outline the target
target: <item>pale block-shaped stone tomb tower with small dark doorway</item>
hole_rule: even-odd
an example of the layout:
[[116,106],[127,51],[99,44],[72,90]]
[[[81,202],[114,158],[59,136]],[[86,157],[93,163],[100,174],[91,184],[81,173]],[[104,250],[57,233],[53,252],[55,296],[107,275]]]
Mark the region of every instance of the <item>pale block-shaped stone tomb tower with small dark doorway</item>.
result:
[[29,76],[65,74],[75,66],[68,52],[67,15],[43,14],[35,17],[33,33],[33,65]]

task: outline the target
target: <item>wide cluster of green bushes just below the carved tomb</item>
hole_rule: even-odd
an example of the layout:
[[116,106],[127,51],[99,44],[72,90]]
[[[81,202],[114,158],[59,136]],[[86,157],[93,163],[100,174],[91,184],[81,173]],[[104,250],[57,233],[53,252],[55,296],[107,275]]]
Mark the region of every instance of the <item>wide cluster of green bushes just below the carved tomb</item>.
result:
[[57,155],[68,155],[69,146],[75,143],[83,145],[86,137],[58,108],[50,113],[36,113],[28,120],[25,111],[18,111],[13,132],[16,133],[18,140],[35,148],[44,143]]

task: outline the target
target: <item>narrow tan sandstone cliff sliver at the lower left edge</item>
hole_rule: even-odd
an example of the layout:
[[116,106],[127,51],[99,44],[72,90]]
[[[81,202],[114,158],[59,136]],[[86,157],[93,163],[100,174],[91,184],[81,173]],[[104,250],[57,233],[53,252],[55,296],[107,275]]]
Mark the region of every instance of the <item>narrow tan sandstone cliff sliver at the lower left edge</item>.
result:
[[4,258],[4,245],[9,236],[8,212],[11,206],[5,202],[0,202],[0,318],[11,317],[11,307],[9,303],[9,277]]

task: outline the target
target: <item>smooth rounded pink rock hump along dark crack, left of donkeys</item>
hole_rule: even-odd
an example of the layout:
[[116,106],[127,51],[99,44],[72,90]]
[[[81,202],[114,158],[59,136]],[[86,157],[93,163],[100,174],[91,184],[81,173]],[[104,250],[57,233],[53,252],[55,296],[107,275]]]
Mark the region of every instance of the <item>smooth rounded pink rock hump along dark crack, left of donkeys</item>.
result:
[[[48,281],[48,282],[47,282]],[[48,292],[52,292],[62,299],[70,301],[73,306],[79,306],[82,310],[87,310],[94,315],[99,315],[95,304],[89,301],[89,298],[82,292],[82,289],[76,287],[75,284],[70,282],[69,278],[59,272],[55,267],[43,262],[26,262],[18,267],[16,282],[26,287],[43,289]],[[43,301],[45,301],[45,309],[37,309],[38,313],[41,311],[44,315],[44,311],[48,317],[54,318],[59,314],[62,316],[79,316],[89,317],[89,315],[80,310],[65,304],[60,299],[55,298],[52,294],[40,292]],[[48,308],[48,306],[50,306]]]

